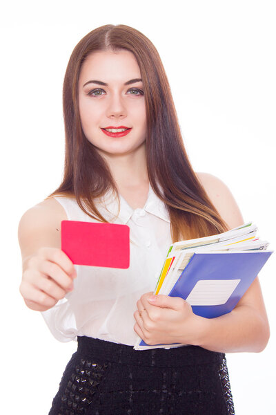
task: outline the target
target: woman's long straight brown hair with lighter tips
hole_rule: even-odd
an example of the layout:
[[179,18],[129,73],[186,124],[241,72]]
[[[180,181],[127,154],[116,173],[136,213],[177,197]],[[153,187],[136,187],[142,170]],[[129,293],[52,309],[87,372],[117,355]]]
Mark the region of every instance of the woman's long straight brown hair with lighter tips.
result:
[[79,116],[81,65],[96,50],[129,50],[137,59],[146,102],[146,154],[150,185],[170,214],[172,240],[204,237],[227,229],[190,165],[170,86],[159,54],[146,36],[125,25],[101,26],[72,52],[63,83],[66,155],[61,185],[48,197],[75,196],[80,208],[105,222],[95,199],[108,190],[117,196],[108,165],[86,139]]

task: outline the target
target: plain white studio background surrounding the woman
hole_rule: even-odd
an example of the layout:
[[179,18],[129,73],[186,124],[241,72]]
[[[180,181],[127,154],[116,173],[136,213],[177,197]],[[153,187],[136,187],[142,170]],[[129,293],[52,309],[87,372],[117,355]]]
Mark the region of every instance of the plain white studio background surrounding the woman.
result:
[[[76,348],[23,303],[17,242],[23,212],[61,181],[61,89],[72,48],[103,24],[144,33],[163,60],[195,170],[221,178],[275,248],[275,21],[275,1],[266,0],[17,0],[1,8],[2,413],[48,414]],[[275,407],[275,257],[260,273],[268,347],[228,354],[237,415]]]

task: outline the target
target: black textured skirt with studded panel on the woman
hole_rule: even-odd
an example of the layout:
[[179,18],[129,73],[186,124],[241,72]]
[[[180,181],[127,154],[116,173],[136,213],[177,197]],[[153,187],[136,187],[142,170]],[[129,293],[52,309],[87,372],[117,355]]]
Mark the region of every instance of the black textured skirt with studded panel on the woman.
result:
[[49,415],[233,415],[224,353],[78,338]]

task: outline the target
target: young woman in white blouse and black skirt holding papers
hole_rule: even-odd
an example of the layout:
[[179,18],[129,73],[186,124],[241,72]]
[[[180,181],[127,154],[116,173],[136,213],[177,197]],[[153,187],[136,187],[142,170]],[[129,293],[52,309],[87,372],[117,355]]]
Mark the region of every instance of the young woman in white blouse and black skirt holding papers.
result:
[[[243,223],[224,183],[193,172],[155,47],[128,26],[93,30],[70,57],[63,111],[63,181],[19,224],[26,305],[58,340],[78,340],[50,414],[234,414],[224,353],[269,337],[258,279],[210,320],[152,295],[171,241]],[[130,268],[73,266],[64,219],[127,224]],[[135,351],[137,334],[187,346]]]

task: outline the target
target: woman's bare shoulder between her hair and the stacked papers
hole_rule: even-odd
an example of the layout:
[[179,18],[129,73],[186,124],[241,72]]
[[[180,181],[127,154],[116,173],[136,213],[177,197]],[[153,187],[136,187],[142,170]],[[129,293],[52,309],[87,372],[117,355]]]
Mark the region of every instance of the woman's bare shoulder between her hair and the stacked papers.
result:
[[242,213],[228,186],[213,174],[197,173],[197,178],[217,212],[230,228],[244,223]]

